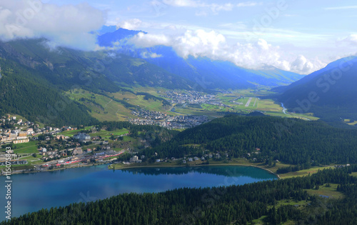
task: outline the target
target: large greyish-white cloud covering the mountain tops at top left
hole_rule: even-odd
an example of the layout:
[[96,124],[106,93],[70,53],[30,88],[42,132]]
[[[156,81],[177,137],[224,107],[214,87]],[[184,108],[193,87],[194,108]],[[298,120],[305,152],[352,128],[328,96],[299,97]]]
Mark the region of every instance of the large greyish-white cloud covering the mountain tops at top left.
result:
[[0,39],[44,37],[52,46],[93,50],[96,36],[89,32],[100,29],[105,17],[103,11],[89,4],[57,6],[39,0],[2,1]]

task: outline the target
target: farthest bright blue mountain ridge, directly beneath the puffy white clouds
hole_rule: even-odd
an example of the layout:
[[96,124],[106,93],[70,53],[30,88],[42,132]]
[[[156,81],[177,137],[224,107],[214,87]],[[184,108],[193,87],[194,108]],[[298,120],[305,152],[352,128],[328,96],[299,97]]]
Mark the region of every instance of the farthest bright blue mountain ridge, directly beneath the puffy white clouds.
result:
[[[213,61],[206,57],[183,59],[170,46],[137,48],[130,39],[143,31],[117,29],[98,36],[100,46],[114,47],[118,52],[145,59],[151,64],[196,82],[205,89],[246,89],[257,85],[278,86],[303,78],[301,74],[274,67],[263,70],[244,69],[228,61]],[[146,32],[144,32],[146,34]]]

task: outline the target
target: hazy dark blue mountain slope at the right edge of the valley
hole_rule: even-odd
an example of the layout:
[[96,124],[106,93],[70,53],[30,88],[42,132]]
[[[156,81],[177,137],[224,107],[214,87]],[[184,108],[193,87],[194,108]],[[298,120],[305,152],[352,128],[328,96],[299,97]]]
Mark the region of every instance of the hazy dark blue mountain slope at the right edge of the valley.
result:
[[357,120],[357,57],[328,64],[288,86],[272,89],[278,101],[301,113],[312,112],[326,121]]

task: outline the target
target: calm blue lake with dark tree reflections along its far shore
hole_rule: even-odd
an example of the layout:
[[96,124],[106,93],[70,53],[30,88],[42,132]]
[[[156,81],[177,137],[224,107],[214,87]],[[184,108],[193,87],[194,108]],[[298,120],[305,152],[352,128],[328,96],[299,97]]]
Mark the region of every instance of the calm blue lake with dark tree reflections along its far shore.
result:
[[[183,187],[230,186],[276,176],[251,166],[197,166],[109,170],[106,165],[11,176],[11,216],[75,202],[105,199],[122,193],[159,192]],[[5,209],[5,177],[0,199]],[[2,212],[0,221],[5,219]]]

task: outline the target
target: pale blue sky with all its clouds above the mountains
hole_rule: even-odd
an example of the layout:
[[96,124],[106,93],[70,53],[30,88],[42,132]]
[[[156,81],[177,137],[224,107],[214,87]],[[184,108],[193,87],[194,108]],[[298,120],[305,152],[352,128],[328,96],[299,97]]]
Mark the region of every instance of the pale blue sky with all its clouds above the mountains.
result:
[[[11,19],[6,9],[13,16],[21,14],[31,8],[29,1],[0,4],[0,29],[1,22],[6,28]],[[43,0],[41,4],[41,10],[22,24],[24,31],[0,31],[0,37],[45,36],[54,46],[89,50],[97,48],[89,30],[116,25],[149,32],[132,40],[136,46],[164,44],[183,57],[207,56],[251,69],[275,66],[300,74],[357,52],[357,2],[350,0]]]

